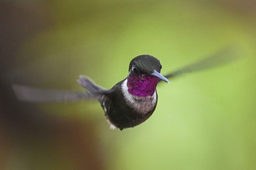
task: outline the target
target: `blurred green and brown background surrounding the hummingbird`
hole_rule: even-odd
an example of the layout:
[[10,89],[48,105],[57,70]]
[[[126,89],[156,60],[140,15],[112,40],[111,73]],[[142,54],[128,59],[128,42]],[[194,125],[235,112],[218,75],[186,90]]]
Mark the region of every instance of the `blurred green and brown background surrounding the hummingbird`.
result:
[[[11,84],[111,88],[131,59],[166,74],[230,44],[224,67],[159,84],[152,117],[110,130],[98,102],[25,103]],[[255,170],[256,3],[253,0],[0,1],[1,170]]]

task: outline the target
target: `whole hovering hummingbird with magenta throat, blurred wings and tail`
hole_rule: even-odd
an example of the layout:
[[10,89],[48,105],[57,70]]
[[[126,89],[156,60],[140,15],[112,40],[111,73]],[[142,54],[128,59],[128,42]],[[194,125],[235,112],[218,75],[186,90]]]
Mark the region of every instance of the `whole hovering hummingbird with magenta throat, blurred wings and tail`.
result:
[[77,82],[87,91],[64,91],[39,89],[13,84],[16,97],[27,102],[68,102],[81,99],[97,99],[105,112],[110,128],[123,130],[146,121],[157,106],[157,84],[160,81],[169,83],[170,78],[184,73],[199,71],[229,63],[237,58],[233,48],[203,58],[193,64],[163,76],[160,72],[160,61],[148,54],[132,59],[129,64],[129,74],[105,90],[86,76],[79,76]]

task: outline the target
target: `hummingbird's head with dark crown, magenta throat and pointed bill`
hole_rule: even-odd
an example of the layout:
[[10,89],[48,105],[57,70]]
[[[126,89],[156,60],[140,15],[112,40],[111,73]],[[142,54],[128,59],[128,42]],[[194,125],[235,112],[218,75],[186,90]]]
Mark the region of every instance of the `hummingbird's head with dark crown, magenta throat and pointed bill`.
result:
[[140,55],[132,59],[129,64],[127,78],[128,92],[137,97],[152,96],[159,80],[169,82],[160,74],[160,61],[150,55]]

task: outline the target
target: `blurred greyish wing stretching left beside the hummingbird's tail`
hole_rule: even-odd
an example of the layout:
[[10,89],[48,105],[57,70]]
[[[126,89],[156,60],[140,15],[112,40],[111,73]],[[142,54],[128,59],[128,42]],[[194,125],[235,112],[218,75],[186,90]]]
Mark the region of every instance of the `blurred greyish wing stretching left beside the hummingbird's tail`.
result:
[[17,84],[12,84],[12,88],[18,100],[26,102],[72,102],[99,97],[85,91],[40,89]]

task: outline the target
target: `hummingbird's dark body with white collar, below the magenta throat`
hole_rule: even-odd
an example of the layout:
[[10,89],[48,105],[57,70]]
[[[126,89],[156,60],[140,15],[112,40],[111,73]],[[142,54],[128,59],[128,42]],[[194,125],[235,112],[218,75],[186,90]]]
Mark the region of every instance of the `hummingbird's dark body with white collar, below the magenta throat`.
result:
[[146,121],[157,105],[157,92],[152,96],[137,97],[128,92],[127,79],[112,87],[111,93],[99,100],[110,124],[122,130]]

